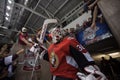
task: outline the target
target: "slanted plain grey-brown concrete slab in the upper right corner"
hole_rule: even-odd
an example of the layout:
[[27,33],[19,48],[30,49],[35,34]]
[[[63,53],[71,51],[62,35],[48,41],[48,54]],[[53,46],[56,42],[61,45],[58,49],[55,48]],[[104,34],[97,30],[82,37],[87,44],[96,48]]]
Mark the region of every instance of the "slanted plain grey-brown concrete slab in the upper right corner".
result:
[[120,47],[120,0],[100,0],[98,6]]

